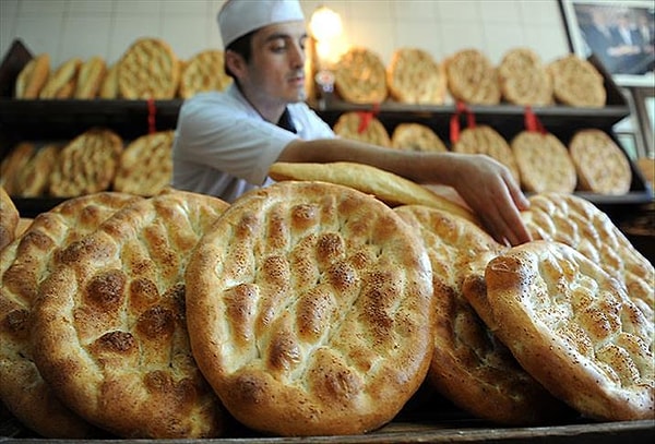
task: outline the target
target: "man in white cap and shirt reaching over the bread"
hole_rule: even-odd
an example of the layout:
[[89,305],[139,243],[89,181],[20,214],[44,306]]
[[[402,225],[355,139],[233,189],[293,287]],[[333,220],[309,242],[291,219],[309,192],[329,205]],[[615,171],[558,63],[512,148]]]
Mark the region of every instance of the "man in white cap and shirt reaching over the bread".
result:
[[510,171],[483,155],[389,149],[336,137],[303,101],[305,16],[297,0],[227,0],[218,12],[235,82],[180,108],[172,185],[234,202],[272,182],[275,161],[367,164],[418,183],[453,187],[499,241],[529,240],[529,205]]

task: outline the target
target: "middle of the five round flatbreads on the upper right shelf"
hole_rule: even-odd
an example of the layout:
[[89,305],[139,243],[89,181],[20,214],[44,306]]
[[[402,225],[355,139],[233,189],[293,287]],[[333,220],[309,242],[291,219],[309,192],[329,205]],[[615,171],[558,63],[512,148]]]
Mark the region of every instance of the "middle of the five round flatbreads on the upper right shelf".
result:
[[467,104],[500,103],[498,72],[491,61],[477,49],[463,49],[445,61],[445,75],[451,95]]

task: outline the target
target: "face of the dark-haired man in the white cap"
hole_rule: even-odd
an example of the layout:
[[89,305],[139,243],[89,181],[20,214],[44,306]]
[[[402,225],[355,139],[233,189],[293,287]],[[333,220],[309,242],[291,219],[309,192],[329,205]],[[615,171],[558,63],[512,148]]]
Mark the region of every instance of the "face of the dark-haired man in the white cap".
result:
[[257,100],[296,103],[305,99],[303,22],[266,26],[252,36],[252,58],[242,84]]

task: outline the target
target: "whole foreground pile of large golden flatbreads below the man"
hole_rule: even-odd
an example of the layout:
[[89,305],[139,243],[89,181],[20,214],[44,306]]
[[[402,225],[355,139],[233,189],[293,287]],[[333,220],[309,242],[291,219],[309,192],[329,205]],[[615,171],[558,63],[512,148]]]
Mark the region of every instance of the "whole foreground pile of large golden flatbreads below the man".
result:
[[499,424],[653,417],[655,269],[591,203],[531,196],[510,248],[371,167],[271,175],[36,217],[0,252],[10,411],[47,437],[347,435],[428,384]]

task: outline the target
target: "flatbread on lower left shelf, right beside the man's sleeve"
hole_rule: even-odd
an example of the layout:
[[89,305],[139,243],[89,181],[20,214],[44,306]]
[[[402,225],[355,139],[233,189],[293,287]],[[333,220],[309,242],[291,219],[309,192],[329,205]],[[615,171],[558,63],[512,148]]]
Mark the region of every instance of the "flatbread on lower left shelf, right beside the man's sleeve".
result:
[[152,196],[169,185],[174,136],[174,131],[162,131],[132,141],[120,156],[114,189]]

